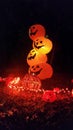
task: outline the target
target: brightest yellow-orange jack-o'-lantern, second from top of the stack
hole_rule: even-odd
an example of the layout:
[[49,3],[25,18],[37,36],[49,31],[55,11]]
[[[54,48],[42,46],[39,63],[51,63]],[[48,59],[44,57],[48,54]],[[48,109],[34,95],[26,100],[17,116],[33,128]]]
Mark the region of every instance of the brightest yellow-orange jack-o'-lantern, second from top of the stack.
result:
[[52,50],[53,44],[52,41],[45,37],[37,37],[33,41],[33,48],[39,51],[40,53],[47,54]]

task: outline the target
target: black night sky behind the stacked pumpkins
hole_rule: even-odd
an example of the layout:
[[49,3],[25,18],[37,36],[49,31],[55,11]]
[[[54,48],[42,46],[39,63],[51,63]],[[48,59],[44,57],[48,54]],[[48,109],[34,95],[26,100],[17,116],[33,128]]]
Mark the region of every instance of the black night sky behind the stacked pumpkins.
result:
[[28,66],[26,57],[32,49],[28,29],[33,24],[42,24],[53,42],[55,71],[72,73],[73,0],[0,1],[0,72]]

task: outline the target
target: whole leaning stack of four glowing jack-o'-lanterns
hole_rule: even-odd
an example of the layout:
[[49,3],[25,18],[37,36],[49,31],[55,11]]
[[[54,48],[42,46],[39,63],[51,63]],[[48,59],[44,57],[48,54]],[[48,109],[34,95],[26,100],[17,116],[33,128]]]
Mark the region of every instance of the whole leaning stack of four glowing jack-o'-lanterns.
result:
[[47,54],[51,52],[52,41],[46,38],[45,28],[40,24],[29,28],[29,37],[32,40],[32,50],[27,55],[29,74],[37,75],[41,80],[51,78],[53,68],[47,63]]

